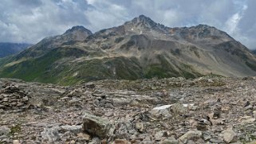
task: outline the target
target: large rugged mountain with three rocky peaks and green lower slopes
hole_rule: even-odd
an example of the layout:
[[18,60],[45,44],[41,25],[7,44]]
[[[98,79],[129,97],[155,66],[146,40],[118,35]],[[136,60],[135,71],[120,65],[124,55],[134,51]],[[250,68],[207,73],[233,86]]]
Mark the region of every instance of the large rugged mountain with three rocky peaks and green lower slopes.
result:
[[92,33],[74,26],[0,60],[0,77],[53,84],[208,74],[256,76],[256,57],[209,25],[169,28],[140,15]]

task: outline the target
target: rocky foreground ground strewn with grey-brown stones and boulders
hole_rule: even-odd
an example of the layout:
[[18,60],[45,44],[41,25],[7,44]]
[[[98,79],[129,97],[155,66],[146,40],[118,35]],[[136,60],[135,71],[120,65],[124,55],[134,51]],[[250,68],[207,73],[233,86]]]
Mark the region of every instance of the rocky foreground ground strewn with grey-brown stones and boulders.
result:
[[255,143],[256,78],[0,80],[0,143]]

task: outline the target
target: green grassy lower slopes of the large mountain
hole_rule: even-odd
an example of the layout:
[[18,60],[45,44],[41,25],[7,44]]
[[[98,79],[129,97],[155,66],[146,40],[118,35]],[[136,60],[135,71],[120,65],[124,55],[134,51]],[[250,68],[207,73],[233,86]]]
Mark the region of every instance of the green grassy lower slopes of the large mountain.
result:
[[104,79],[136,80],[152,77],[184,76],[189,78],[199,76],[198,72],[191,71],[185,64],[179,68],[179,71],[175,71],[163,56],[159,56],[160,63],[144,67],[135,57],[120,56],[76,61],[77,58],[85,58],[87,55],[89,53],[77,48],[53,49],[38,58],[30,58],[18,64],[5,64],[0,72],[0,77],[72,85]]

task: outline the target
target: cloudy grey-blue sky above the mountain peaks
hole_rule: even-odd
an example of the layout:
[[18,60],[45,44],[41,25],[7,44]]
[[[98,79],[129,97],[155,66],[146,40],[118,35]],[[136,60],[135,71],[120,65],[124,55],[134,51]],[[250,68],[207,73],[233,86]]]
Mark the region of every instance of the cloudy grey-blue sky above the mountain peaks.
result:
[[213,25],[256,49],[255,0],[1,0],[0,41],[37,43],[73,25],[96,32],[144,14],[169,27]]

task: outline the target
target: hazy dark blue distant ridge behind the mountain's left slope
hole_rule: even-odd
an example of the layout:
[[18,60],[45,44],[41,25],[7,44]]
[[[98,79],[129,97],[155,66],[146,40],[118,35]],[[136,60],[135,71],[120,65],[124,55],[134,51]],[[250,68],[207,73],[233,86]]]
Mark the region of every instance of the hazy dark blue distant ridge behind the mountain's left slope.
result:
[[0,58],[5,56],[10,56],[15,53],[19,53],[22,50],[30,47],[30,44],[25,43],[10,43],[10,42],[0,42]]

